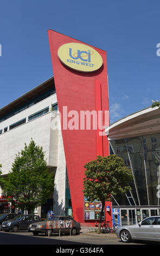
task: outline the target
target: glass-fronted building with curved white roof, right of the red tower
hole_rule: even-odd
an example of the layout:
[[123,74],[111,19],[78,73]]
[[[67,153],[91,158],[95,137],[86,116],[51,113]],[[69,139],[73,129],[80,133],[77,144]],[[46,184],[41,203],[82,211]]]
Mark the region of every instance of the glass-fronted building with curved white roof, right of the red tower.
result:
[[110,153],[132,170],[132,190],[112,200],[121,225],[160,214],[160,109],[146,108],[106,128]]

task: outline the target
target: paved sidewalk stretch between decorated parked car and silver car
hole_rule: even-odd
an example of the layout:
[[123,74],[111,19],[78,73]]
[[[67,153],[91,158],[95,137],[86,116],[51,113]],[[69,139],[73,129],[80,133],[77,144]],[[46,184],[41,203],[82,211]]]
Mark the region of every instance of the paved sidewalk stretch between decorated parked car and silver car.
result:
[[80,234],[81,235],[89,235],[89,236],[102,236],[102,237],[117,237],[116,233],[101,233],[97,234],[95,232],[97,228],[94,227],[81,227]]

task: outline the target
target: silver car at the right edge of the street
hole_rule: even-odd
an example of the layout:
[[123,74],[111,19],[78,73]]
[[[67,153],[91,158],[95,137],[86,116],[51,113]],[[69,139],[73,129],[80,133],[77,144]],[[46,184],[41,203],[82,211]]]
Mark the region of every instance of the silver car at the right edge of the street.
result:
[[125,243],[132,239],[160,242],[160,216],[145,218],[135,225],[119,227],[116,234]]

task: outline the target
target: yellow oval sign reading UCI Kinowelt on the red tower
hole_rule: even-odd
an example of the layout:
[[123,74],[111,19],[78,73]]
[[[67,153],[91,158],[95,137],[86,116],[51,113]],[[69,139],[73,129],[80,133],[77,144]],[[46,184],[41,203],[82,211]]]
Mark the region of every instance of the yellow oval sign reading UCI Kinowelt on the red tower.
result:
[[81,72],[93,72],[103,64],[103,59],[97,51],[76,42],[61,45],[57,55],[63,64]]

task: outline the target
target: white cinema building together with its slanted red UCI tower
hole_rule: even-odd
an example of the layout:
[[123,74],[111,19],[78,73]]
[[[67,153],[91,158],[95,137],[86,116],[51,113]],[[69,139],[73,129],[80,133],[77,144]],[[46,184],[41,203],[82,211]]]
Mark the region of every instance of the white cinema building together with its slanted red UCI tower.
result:
[[[102,118],[109,109],[106,52],[51,30],[48,37],[54,77],[0,109],[2,175],[8,175],[15,155],[33,138],[55,175],[53,193],[34,213],[45,218],[53,210],[54,215],[73,215],[80,223],[94,225],[101,202],[89,202],[82,190],[84,165],[109,155]],[[85,111],[100,113],[97,129],[82,123]],[[11,210],[0,193],[0,211]],[[106,203],[103,220],[111,218],[111,203]]]

